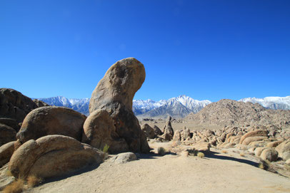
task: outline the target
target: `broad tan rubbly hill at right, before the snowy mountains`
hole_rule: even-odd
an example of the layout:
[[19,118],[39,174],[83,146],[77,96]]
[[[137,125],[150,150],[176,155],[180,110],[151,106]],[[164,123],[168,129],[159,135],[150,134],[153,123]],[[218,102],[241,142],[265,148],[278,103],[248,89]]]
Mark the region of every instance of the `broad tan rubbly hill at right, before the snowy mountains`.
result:
[[207,125],[274,125],[279,128],[290,127],[290,110],[269,110],[258,103],[244,103],[223,99],[210,103],[186,120],[194,120]]

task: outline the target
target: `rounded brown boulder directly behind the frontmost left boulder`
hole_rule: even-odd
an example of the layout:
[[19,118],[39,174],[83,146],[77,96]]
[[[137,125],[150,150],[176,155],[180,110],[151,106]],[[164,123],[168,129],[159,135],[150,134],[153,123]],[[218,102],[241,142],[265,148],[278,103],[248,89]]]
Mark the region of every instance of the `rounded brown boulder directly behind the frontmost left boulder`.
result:
[[81,141],[85,120],[85,115],[69,108],[37,108],[26,116],[16,138],[22,144],[45,135],[65,135]]

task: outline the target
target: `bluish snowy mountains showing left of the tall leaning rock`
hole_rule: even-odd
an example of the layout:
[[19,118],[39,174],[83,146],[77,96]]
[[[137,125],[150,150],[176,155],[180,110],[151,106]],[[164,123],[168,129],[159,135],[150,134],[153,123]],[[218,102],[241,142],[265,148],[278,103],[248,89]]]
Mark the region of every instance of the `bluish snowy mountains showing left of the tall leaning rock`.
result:
[[65,98],[62,96],[51,97],[51,98],[38,98],[49,105],[72,108],[79,113],[89,115],[89,98]]

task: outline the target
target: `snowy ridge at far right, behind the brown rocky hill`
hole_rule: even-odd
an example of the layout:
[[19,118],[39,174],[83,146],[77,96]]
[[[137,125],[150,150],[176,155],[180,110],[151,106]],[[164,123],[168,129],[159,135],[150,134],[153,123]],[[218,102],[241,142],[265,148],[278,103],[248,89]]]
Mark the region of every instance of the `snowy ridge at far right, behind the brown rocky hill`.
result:
[[244,103],[259,103],[264,108],[274,109],[274,110],[290,110],[290,96],[286,97],[265,97],[265,98],[242,98]]

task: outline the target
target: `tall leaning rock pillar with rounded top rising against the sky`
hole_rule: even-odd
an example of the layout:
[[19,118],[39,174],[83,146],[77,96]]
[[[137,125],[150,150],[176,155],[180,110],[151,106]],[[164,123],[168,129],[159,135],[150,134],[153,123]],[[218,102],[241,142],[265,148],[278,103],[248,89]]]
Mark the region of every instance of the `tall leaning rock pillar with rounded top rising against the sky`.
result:
[[146,137],[142,137],[139,121],[132,111],[133,98],[145,80],[145,68],[135,58],[114,63],[91,94],[89,112],[108,111],[116,133],[126,140],[132,152],[149,152]]

